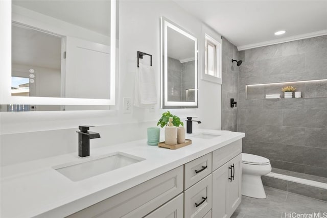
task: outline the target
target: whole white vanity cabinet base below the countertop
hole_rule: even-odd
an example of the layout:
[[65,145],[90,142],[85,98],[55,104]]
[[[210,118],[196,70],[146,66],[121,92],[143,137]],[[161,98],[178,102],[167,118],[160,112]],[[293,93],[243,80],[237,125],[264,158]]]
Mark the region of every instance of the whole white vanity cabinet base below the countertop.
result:
[[230,217],[241,203],[241,150],[232,142],[68,217]]

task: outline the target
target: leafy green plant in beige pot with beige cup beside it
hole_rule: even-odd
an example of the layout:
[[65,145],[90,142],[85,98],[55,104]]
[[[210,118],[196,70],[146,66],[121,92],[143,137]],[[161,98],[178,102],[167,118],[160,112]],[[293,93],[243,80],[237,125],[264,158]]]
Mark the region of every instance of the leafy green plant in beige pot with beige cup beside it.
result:
[[[177,141],[179,143],[185,142],[185,134],[183,134],[183,132],[185,132],[185,129],[183,127],[184,123],[180,121],[180,118],[178,116],[172,114],[170,111],[162,113],[162,116],[157,123],[157,126],[159,125],[161,128],[165,127],[166,144],[169,144],[170,146],[174,146],[175,144],[177,144]],[[177,131],[177,127],[178,127],[178,131]]]

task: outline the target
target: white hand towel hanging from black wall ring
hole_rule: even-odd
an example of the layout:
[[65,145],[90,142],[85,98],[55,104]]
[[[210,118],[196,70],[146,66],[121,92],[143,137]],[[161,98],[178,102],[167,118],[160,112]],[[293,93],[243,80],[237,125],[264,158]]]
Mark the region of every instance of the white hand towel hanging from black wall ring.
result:
[[138,64],[135,75],[134,106],[150,108],[157,104],[157,89],[152,66]]

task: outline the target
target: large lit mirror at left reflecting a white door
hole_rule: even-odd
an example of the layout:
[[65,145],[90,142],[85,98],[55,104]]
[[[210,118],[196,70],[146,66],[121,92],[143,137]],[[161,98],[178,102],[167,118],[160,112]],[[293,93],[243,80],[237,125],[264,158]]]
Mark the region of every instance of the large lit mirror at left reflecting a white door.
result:
[[0,4],[2,105],[115,104],[115,0]]

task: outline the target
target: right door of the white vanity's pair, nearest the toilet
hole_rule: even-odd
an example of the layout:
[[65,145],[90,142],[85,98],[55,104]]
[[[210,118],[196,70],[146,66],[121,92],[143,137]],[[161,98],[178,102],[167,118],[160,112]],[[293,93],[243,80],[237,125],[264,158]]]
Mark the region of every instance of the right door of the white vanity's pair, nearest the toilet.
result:
[[[242,188],[242,155],[239,154],[228,162],[227,180],[227,214],[228,217],[236,210],[241,203]],[[230,169],[230,168],[231,169]]]

